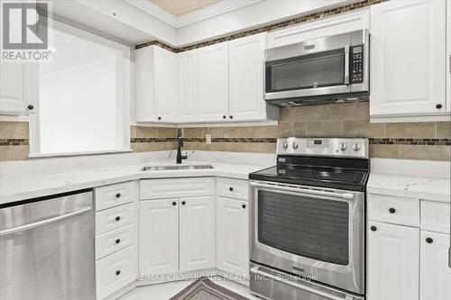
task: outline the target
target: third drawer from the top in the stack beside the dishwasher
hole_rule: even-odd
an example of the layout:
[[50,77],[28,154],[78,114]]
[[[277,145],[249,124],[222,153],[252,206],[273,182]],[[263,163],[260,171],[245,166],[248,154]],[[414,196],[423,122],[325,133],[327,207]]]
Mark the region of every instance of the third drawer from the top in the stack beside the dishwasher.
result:
[[96,236],[96,259],[133,245],[136,241],[134,224]]

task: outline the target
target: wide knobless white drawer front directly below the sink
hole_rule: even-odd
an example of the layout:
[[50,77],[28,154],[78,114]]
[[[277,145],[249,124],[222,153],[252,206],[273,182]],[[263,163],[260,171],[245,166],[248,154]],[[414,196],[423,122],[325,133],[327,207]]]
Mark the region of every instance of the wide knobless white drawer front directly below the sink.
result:
[[165,199],[215,195],[213,177],[145,179],[140,181],[140,199]]

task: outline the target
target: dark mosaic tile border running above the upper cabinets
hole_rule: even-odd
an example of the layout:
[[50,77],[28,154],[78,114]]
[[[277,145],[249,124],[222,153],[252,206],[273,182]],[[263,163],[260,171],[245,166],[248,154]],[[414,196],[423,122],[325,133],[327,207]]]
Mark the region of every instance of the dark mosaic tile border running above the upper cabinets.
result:
[[202,41],[199,42],[197,44],[193,44],[193,45],[189,45],[189,46],[183,46],[180,48],[175,48],[172,47],[170,45],[167,45],[161,41],[149,41],[149,42],[145,42],[143,44],[139,44],[136,45],[136,49],[140,49],[143,47],[148,47],[148,46],[152,46],[152,45],[157,45],[160,46],[161,48],[165,49],[165,50],[170,50],[174,53],[179,53],[179,52],[184,52],[184,51],[188,51],[188,50],[194,50],[194,49],[198,49],[198,48],[202,48],[202,47],[206,47],[209,45],[213,45],[213,44],[217,44],[223,41],[232,41],[235,39],[239,39],[239,38],[244,38],[245,36],[249,36],[249,35],[253,35],[253,34],[257,34],[257,33],[261,33],[261,32],[272,32],[275,30],[280,30],[282,28],[286,28],[289,26],[293,26],[293,25],[297,25],[300,23],[307,23],[310,21],[314,21],[314,20],[319,20],[319,19],[323,19],[326,18],[327,16],[331,16],[331,15],[336,15],[336,14],[344,14],[347,12],[351,12],[354,11],[356,9],[360,9],[360,8],[364,8],[366,6],[370,6],[370,5],[376,5],[379,3],[382,3],[384,1],[388,1],[388,0],[364,0],[364,1],[359,1],[356,2],[354,4],[350,4],[350,5],[344,5],[344,6],[340,6],[340,7],[336,7],[333,9],[328,9],[326,11],[323,12],[318,12],[315,14],[308,14],[308,15],[304,15],[304,16],[299,16],[297,18],[293,18],[287,21],[282,21],[279,23],[273,23],[270,25],[266,25],[266,26],[262,26],[256,29],[252,29],[252,30],[248,30],[248,31],[244,31],[244,32],[238,32],[238,33],[234,33],[231,35],[227,35],[225,37],[222,38],[217,38],[214,40],[210,40],[210,41]]

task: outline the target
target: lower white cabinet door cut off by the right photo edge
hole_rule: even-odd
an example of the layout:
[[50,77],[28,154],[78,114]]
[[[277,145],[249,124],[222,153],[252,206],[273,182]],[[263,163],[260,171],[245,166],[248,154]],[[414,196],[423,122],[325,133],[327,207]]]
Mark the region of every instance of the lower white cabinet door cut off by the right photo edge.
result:
[[449,234],[421,231],[421,300],[447,299],[451,295],[448,249]]

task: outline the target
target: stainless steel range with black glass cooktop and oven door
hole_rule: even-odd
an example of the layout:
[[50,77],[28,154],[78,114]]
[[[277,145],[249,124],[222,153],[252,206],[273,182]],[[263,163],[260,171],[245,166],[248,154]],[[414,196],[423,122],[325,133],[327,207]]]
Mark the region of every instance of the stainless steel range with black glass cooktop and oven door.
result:
[[364,299],[366,139],[279,139],[252,173],[251,292],[273,300]]

